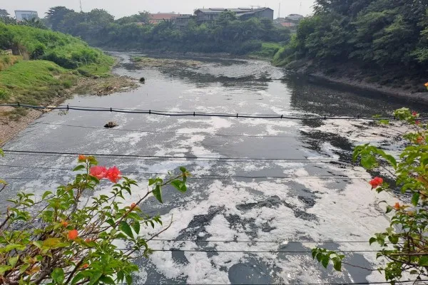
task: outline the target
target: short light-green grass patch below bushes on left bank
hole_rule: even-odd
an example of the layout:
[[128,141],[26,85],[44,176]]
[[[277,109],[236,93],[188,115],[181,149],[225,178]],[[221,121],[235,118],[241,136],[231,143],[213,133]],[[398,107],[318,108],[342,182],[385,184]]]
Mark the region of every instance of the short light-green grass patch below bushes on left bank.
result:
[[50,103],[66,98],[64,90],[78,76],[50,61],[20,61],[0,73],[0,100],[20,103]]

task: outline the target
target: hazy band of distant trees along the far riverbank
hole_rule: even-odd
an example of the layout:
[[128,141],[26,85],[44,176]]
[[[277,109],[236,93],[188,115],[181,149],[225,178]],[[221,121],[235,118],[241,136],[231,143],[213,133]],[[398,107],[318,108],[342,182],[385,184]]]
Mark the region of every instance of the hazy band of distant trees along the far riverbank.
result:
[[223,12],[213,23],[198,25],[191,19],[185,28],[178,28],[173,21],[153,26],[149,19],[147,12],[115,20],[101,9],[76,13],[59,6],[49,10],[46,24],[94,46],[156,51],[233,54],[262,51],[272,56],[271,46],[263,46],[263,42],[287,43],[290,38],[288,29],[275,27],[270,19],[241,21],[230,11]]

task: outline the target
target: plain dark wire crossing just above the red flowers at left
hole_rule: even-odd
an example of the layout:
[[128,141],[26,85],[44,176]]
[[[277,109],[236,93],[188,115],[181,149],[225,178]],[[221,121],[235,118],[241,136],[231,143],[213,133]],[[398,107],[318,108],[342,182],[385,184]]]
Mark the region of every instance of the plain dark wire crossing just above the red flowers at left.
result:
[[166,159],[166,160],[209,160],[209,161],[285,161],[285,162],[341,162],[339,160],[310,160],[302,158],[262,158],[262,157],[190,157],[190,156],[168,156],[168,155],[119,155],[119,154],[104,154],[104,153],[86,153],[86,152],[48,152],[48,151],[36,151],[36,150],[3,150],[5,153],[14,154],[35,154],[35,155],[92,155],[96,157],[131,157],[131,158],[148,158],[148,159]]

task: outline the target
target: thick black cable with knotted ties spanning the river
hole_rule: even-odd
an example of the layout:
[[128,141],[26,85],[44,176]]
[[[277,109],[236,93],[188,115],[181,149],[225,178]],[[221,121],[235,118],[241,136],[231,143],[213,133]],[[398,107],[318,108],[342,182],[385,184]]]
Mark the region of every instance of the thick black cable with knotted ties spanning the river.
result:
[[[393,116],[384,117],[384,118],[367,118],[362,116],[347,116],[347,117],[336,117],[336,116],[290,116],[290,115],[245,115],[245,114],[230,114],[230,113],[201,113],[201,112],[171,112],[171,111],[156,111],[156,110],[133,110],[133,109],[118,109],[118,108],[84,108],[81,106],[58,106],[58,107],[44,107],[37,105],[26,105],[21,103],[9,103],[9,104],[0,104],[0,106],[9,106],[9,107],[21,107],[21,108],[31,108],[31,109],[47,109],[47,110],[81,110],[87,112],[111,112],[111,113],[129,113],[129,114],[148,114],[148,115],[163,115],[171,117],[223,117],[223,118],[259,118],[259,119],[287,119],[287,120],[392,120]],[[426,120],[427,118],[419,118],[419,120]]]

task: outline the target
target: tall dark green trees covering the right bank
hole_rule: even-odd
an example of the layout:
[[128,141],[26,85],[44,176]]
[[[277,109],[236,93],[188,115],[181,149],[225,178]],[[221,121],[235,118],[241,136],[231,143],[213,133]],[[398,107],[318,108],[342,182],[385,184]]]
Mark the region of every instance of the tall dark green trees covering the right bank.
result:
[[275,63],[305,58],[332,73],[335,66],[360,67],[382,83],[422,80],[428,75],[427,9],[427,0],[317,0],[315,14],[300,22]]

